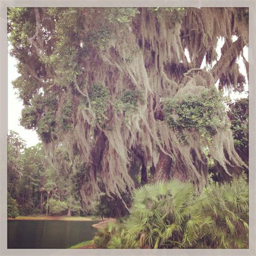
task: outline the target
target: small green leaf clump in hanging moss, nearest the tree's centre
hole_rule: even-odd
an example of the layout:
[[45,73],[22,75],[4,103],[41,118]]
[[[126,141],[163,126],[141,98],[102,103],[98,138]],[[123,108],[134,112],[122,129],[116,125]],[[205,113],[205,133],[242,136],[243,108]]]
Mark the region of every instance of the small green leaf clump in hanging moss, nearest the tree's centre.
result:
[[124,111],[125,116],[129,117],[132,113],[138,112],[139,103],[145,104],[143,92],[138,90],[126,90],[116,102],[117,112]]

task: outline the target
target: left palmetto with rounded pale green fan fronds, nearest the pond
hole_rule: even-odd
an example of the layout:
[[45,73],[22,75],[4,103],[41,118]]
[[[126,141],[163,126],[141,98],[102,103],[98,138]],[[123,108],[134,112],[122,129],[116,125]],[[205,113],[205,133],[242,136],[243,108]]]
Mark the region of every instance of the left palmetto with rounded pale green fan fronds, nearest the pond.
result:
[[198,214],[193,185],[178,180],[145,185],[134,191],[132,199],[130,217],[125,221],[129,239],[151,248],[196,242],[196,232],[188,234],[183,241],[187,221]]

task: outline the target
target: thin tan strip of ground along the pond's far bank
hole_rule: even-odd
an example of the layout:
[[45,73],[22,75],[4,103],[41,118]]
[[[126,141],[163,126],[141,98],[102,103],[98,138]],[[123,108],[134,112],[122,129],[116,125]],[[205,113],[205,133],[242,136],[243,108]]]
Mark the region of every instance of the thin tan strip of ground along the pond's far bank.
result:
[[46,216],[46,215],[35,215],[35,216],[17,216],[16,218],[8,218],[8,220],[75,220],[75,221],[92,221],[100,220],[95,216]]

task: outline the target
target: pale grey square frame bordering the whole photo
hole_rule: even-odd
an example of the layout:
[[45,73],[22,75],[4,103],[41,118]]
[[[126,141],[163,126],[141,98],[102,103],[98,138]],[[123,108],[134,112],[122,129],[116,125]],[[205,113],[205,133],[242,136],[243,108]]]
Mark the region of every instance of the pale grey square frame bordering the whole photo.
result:
[[[249,249],[7,249],[7,7],[248,7],[249,8]],[[256,255],[255,250],[255,0],[0,0],[0,255]],[[14,106],[15,107],[15,106]],[[121,251],[120,251],[121,250]]]

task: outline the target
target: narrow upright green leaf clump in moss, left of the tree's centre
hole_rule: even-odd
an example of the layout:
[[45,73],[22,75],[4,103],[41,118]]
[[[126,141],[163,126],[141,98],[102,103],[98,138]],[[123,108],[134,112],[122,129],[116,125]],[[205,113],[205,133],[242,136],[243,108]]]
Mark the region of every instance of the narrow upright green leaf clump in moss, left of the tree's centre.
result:
[[90,87],[89,98],[95,112],[96,122],[103,123],[107,120],[106,109],[110,99],[109,89],[100,83],[93,83]]

